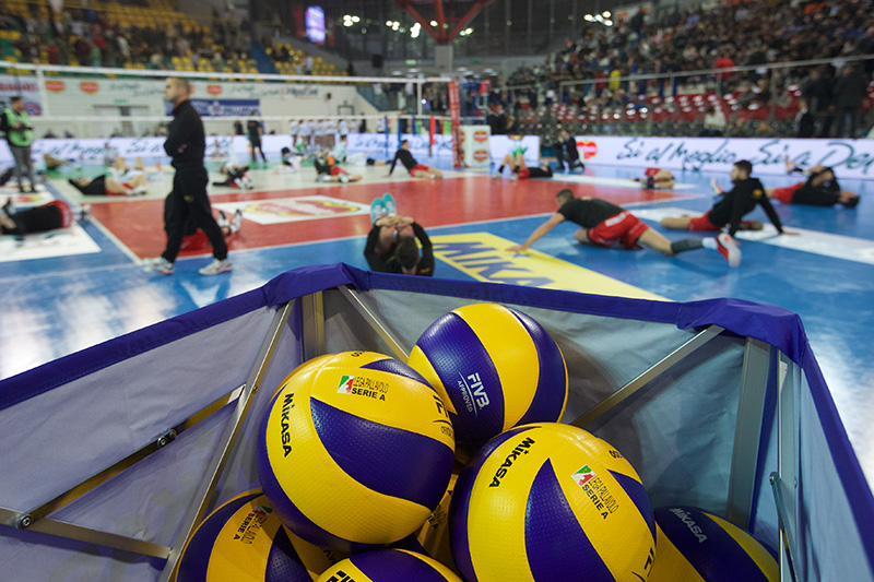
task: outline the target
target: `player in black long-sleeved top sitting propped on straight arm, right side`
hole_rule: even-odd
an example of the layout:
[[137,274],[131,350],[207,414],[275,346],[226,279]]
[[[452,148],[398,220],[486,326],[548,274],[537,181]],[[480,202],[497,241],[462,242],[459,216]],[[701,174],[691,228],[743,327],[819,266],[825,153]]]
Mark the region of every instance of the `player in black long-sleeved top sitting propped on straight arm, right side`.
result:
[[758,178],[749,177],[752,173],[753,164],[746,159],[735,162],[731,168],[733,188],[723,192],[714,179],[714,194],[721,198],[704,216],[669,216],[662,218],[661,225],[672,230],[697,230],[704,233],[718,233],[728,227],[729,235],[733,237],[737,230],[761,230],[759,221],[743,219],[746,214],[755,210],[756,205],[761,205],[778,233],[781,235],[795,234],[783,231],[780,217],[765,194],[765,187],[761,186]]

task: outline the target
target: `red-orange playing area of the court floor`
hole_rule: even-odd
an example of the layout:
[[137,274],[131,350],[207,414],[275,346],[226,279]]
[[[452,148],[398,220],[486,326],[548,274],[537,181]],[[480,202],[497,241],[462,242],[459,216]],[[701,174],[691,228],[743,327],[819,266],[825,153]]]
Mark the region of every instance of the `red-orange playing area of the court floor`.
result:
[[[493,180],[488,176],[464,176],[444,180],[395,179],[380,183],[256,189],[229,193],[217,193],[213,189],[210,200],[213,204],[223,204],[328,197],[369,206],[375,198],[391,192],[398,203],[399,214],[412,216],[423,226],[433,228],[555,212],[555,194],[563,188],[570,189],[577,197],[597,195],[619,205],[686,198],[672,191],[640,190],[634,187],[618,188],[558,180]],[[260,206],[263,209],[270,205]],[[369,214],[350,214],[350,209],[341,209],[333,215],[276,224],[258,224],[253,219],[244,219],[241,233],[227,239],[228,248],[234,251],[366,236],[370,229]],[[92,215],[140,258],[156,257],[164,249],[166,235],[163,200],[125,199],[95,204]],[[244,212],[244,218],[245,216]],[[180,256],[209,252],[209,246],[188,249],[184,247]]]

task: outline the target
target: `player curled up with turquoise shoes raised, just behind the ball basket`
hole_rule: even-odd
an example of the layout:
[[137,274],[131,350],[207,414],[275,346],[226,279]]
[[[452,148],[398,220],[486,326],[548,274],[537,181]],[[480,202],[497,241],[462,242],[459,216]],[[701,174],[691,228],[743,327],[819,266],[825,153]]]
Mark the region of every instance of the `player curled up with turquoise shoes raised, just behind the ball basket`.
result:
[[374,200],[370,204],[370,219],[373,227],[364,246],[364,258],[371,271],[434,275],[430,238],[412,217],[395,214],[394,198],[391,194],[386,193],[381,199]]

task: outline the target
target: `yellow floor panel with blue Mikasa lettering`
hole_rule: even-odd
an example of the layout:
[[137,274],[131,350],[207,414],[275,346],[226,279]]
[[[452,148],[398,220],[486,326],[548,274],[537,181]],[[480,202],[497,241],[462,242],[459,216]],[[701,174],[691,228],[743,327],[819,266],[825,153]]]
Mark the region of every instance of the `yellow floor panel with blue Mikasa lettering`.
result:
[[476,281],[634,299],[668,300],[654,293],[540,251],[529,249],[527,253],[507,252],[505,249],[515,242],[489,233],[438,235],[430,237],[430,240],[436,259]]

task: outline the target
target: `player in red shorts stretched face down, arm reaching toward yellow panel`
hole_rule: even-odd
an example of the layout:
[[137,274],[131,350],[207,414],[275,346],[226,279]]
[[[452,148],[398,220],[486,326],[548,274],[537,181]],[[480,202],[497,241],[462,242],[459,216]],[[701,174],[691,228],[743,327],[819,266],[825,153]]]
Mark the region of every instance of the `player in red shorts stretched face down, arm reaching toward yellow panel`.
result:
[[639,249],[642,246],[665,257],[707,248],[718,251],[731,266],[741,264],[741,249],[724,233],[716,238],[684,238],[672,242],[630,212],[606,200],[591,197],[575,198],[574,192],[564,189],[555,195],[555,202],[558,204],[558,212],[535,228],[528,240],[521,245],[513,245],[507,249],[508,251],[528,250],[550,230],[568,221],[580,227],[574,234],[574,238],[583,245],[618,246],[628,250]]

